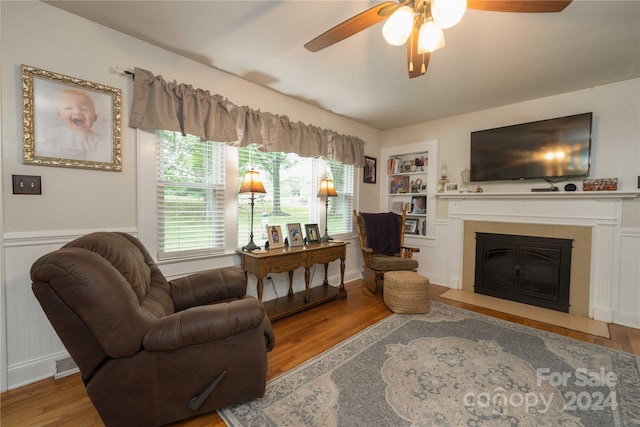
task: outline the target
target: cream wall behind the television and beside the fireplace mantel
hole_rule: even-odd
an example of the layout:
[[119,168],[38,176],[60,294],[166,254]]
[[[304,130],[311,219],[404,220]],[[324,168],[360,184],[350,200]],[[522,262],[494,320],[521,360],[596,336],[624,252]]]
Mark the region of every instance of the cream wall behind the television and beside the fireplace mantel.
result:
[[[446,160],[452,181],[460,181],[460,172],[469,165],[470,132],[499,126],[561,117],[592,111],[594,113],[591,178],[618,178],[620,191],[638,191],[640,175],[640,79],[535,99],[485,111],[434,120],[383,132],[381,146],[396,146],[438,139],[438,154]],[[582,189],[582,181],[572,181]],[[543,181],[482,183],[485,192],[530,192]],[[560,185],[562,188],[563,185]],[[382,206],[381,206],[382,208]],[[427,265],[431,281],[449,285],[449,239],[453,238],[447,221],[448,203],[438,200],[436,239],[426,242],[417,254]],[[613,322],[640,328],[640,198],[622,202],[622,221],[614,236],[620,253],[619,271],[612,272],[611,300],[614,301]],[[418,244],[421,242],[418,241]]]

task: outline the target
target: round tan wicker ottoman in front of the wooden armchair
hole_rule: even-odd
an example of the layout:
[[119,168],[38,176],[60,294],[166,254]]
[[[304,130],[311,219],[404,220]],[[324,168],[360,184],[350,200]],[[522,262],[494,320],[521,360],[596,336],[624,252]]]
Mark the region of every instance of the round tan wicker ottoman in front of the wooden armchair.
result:
[[428,313],[429,279],[415,271],[384,273],[383,299],[394,313]]

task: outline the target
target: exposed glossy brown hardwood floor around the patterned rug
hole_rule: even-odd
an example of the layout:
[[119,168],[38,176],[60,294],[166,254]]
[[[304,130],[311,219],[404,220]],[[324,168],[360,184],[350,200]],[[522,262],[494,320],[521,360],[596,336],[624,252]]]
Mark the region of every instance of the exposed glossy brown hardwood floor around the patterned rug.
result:
[[[346,285],[346,300],[333,301],[273,324],[276,346],[269,353],[268,378],[294,368],[317,356],[360,330],[385,318],[391,312],[380,292],[371,294],[362,281]],[[441,298],[448,288],[431,285],[433,301],[466,308],[533,328],[640,355],[640,330],[611,325],[611,339],[576,332],[555,325],[531,321],[486,308]],[[22,426],[101,426],[96,410],[87,397],[79,374],[59,380],[46,379],[0,396],[0,425]],[[224,426],[217,413],[174,424],[174,426]]]

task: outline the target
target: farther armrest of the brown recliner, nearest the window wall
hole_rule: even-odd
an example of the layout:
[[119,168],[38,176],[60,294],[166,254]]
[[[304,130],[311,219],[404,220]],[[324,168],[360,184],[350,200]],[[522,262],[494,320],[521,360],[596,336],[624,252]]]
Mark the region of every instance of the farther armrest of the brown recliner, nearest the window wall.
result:
[[221,267],[180,277],[169,282],[176,311],[211,304],[247,293],[247,276],[240,267]]

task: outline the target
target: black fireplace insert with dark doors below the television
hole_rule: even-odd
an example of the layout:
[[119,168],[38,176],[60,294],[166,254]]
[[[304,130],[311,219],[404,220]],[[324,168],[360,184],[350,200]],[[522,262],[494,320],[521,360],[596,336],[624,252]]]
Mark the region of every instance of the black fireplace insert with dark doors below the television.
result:
[[569,311],[571,239],[476,233],[474,291]]

